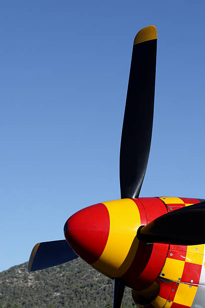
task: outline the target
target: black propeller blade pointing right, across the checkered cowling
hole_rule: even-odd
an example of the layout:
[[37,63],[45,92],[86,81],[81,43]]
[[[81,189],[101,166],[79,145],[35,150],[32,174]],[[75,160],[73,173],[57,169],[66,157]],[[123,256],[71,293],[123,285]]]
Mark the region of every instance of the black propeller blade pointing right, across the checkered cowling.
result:
[[200,245],[205,243],[205,202],[164,214],[138,229],[146,243]]

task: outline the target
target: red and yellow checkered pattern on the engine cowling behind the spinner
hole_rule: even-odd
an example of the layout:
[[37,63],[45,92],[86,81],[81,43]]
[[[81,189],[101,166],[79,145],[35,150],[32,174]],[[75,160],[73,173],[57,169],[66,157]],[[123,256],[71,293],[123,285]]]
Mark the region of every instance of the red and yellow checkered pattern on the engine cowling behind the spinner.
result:
[[[198,199],[160,197],[168,212],[199,203]],[[180,225],[176,226],[180,232]],[[161,278],[172,280],[163,282],[158,279],[160,292],[150,307],[190,308],[199,283],[203,263],[204,244],[194,246],[170,245]]]

